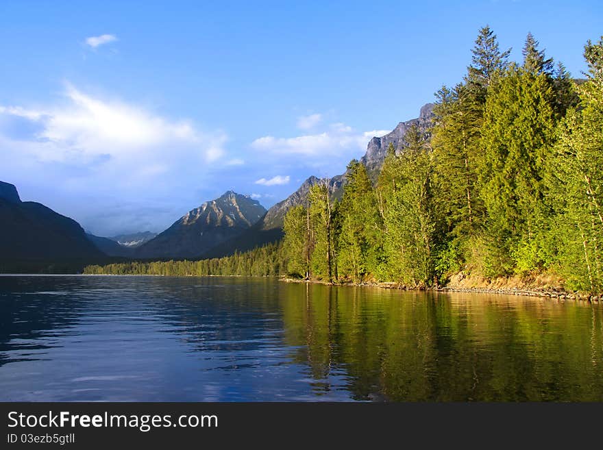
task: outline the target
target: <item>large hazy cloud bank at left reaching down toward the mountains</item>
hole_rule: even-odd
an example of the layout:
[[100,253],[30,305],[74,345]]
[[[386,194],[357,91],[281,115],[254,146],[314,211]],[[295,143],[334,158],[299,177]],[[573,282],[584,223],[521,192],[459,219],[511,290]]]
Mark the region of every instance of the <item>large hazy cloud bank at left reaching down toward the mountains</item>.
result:
[[[67,85],[49,105],[0,105],[0,179],[44,186],[32,199],[63,214],[76,211],[83,225],[97,229],[86,217],[117,201],[169,199],[170,211],[185,210],[191,199],[200,204],[205,198],[195,188],[212,186],[222,162],[232,159],[227,139],[190,119]],[[71,200],[60,204],[61,198]],[[139,216],[157,221],[150,209]]]

